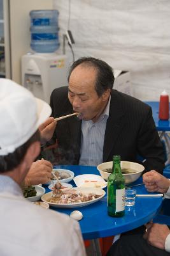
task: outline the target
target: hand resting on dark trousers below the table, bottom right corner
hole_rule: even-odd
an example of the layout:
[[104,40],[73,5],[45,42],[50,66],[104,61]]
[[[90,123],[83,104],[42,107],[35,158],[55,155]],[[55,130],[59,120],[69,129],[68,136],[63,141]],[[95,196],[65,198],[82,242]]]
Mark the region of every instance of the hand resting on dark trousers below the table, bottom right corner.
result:
[[165,250],[166,237],[170,234],[167,225],[148,223],[146,224],[146,232],[143,236],[149,244],[159,249]]

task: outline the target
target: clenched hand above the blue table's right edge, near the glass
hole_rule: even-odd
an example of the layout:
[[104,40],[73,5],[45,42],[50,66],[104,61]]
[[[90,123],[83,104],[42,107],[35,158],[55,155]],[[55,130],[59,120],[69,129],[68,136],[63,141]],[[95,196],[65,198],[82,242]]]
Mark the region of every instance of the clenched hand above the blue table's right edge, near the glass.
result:
[[166,193],[170,186],[170,180],[156,171],[144,173],[143,183],[149,192]]

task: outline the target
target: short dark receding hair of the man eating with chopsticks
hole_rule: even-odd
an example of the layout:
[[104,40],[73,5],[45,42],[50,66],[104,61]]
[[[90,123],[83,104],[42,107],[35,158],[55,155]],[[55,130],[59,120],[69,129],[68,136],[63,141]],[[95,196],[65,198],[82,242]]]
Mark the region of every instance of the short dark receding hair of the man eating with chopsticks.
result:
[[68,75],[68,82],[69,77],[71,76],[71,72],[76,68],[78,65],[82,65],[83,67],[94,67],[97,70],[96,76],[96,92],[99,97],[103,95],[104,91],[107,89],[113,88],[113,83],[115,81],[115,77],[113,75],[113,69],[103,60],[99,60],[92,57],[82,57],[71,65]]

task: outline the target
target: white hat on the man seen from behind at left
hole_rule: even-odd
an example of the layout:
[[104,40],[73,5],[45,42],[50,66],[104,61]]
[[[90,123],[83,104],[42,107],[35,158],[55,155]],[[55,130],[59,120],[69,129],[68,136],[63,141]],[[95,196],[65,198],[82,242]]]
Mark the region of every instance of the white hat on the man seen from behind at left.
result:
[[46,102],[10,79],[0,78],[0,156],[28,141],[51,113]]

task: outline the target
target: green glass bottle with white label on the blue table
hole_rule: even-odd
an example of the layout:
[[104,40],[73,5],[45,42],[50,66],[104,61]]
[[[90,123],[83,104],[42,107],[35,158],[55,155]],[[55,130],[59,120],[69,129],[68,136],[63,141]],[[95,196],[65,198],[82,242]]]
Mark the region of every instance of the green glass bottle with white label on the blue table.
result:
[[120,167],[120,156],[113,156],[112,173],[108,177],[108,215],[125,214],[125,178]]

